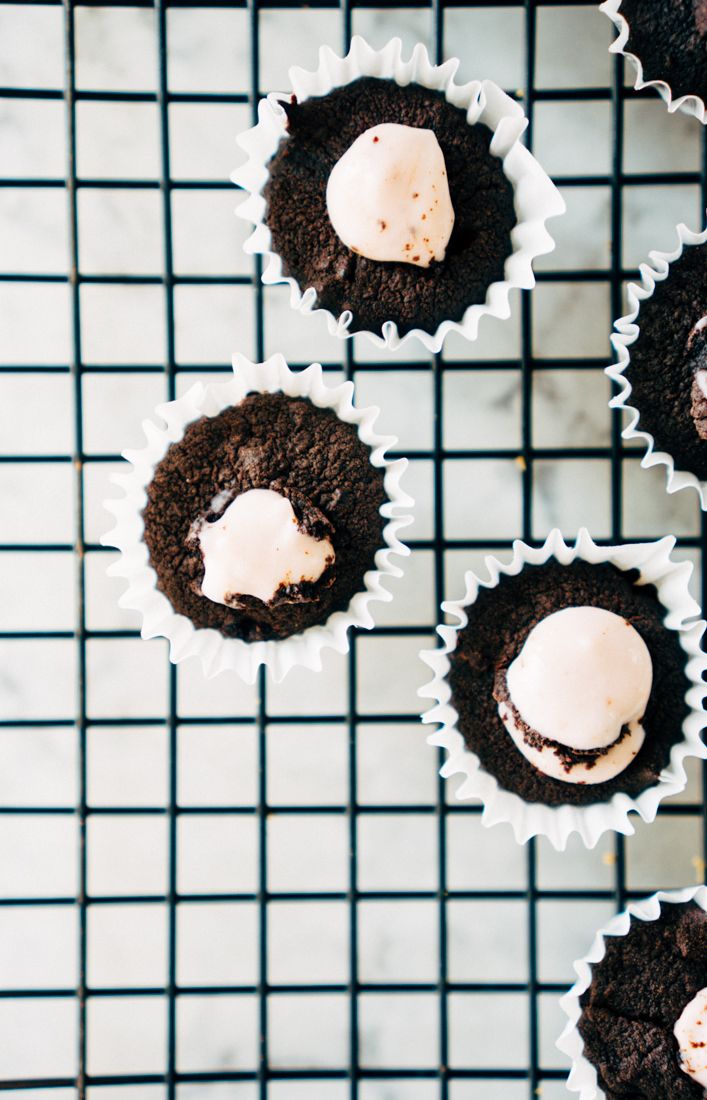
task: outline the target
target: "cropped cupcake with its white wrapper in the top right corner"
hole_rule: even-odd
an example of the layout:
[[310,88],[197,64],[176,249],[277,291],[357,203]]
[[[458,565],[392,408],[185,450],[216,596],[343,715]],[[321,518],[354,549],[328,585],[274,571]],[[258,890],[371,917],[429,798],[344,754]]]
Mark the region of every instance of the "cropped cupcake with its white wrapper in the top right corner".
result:
[[667,110],[707,122],[707,4],[705,0],[605,0],[616,26],[609,50],[636,69],[633,87],[655,88]]

